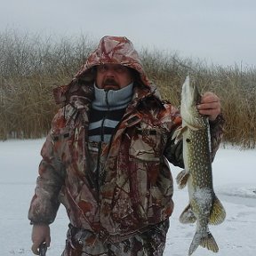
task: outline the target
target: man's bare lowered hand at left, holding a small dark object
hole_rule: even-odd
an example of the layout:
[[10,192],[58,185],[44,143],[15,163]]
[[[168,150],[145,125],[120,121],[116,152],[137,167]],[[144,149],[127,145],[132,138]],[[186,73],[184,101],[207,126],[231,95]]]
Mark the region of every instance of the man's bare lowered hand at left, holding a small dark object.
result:
[[32,247],[31,250],[36,255],[39,255],[39,246],[44,243],[47,247],[50,246],[51,236],[50,236],[50,227],[49,225],[44,224],[34,224],[32,228]]

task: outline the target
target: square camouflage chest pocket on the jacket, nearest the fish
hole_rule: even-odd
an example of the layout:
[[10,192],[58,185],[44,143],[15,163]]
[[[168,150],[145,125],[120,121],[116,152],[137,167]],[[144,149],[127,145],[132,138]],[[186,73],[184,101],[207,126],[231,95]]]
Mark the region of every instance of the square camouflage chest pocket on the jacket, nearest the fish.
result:
[[157,129],[136,128],[129,148],[130,160],[159,161],[161,133]]

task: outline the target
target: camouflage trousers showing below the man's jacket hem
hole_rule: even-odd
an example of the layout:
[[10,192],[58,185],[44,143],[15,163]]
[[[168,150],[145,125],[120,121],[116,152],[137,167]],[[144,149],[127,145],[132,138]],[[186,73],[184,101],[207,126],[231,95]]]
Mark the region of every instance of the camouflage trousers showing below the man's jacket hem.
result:
[[[163,255],[169,220],[148,228],[148,231],[130,236],[119,243],[102,243],[89,230],[81,230],[69,225],[68,238],[62,256],[87,255]],[[86,243],[84,243],[86,241]]]

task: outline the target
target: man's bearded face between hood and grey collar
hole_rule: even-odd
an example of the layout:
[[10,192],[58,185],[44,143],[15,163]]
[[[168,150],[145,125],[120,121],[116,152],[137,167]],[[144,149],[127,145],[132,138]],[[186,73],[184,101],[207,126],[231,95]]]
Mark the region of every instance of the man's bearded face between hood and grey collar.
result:
[[100,89],[119,90],[133,81],[132,71],[119,64],[97,66],[96,85]]

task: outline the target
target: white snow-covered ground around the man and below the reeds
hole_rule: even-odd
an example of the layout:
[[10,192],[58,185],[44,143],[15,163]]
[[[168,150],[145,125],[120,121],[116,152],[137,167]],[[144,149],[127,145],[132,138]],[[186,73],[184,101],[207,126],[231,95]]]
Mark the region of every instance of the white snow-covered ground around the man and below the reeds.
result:
[[[32,255],[28,205],[34,193],[40,149],[44,140],[9,140],[0,142],[0,255]],[[213,182],[224,204],[227,219],[220,226],[210,226],[220,247],[215,254],[198,248],[193,256],[256,255],[256,150],[220,148],[213,164]],[[175,177],[180,171],[172,167]],[[182,225],[180,212],[188,204],[186,188],[174,193],[175,210],[171,218],[164,256],[188,255],[195,225]],[[52,224],[52,244],[48,256],[61,254],[68,219],[60,207]]]

